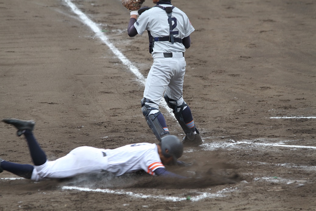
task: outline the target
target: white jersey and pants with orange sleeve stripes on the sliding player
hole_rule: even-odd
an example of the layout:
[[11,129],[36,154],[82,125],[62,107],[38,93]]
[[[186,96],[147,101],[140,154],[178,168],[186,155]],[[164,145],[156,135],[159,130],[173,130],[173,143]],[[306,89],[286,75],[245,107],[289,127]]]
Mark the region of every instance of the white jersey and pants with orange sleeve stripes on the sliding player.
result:
[[112,172],[115,176],[144,170],[155,175],[161,163],[156,144],[138,143],[116,149],[99,149],[90,146],[78,147],[66,156],[45,164],[34,166],[32,180],[43,178],[67,178],[80,174]]

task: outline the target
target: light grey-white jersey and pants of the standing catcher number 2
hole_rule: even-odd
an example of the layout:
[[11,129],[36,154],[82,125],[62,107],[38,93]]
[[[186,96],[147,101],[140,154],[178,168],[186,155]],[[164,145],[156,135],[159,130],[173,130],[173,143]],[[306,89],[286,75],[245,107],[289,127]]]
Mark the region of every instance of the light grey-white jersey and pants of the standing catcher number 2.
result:
[[[163,7],[170,7],[170,4],[160,4]],[[153,37],[169,36],[168,16],[165,10],[153,7],[144,11],[134,27],[138,34],[143,34],[145,30],[150,31]],[[180,9],[174,7],[172,10],[172,28],[175,38],[183,39],[189,36],[194,28],[189,18]],[[143,96],[157,105],[160,104],[163,93],[171,99],[182,99],[182,87],[185,74],[185,47],[182,43],[169,41],[155,41],[153,44],[152,57],[154,63],[151,66],[146,80]],[[171,58],[165,58],[163,53],[173,53]],[[182,102],[179,102],[182,104]],[[152,107],[158,107],[151,105]]]

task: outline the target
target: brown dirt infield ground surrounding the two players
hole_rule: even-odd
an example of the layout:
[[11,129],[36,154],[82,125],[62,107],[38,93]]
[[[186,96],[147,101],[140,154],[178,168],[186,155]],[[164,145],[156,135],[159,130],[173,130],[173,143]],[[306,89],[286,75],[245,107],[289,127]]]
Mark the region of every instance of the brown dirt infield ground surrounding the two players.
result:
[[[168,170],[192,179],[34,183],[2,172],[0,210],[316,210],[316,3],[172,2],[195,28],[183,97],[204,144],[185,148],[190,168]],[[147,76],[148,37],[128,37],[120,0],[0,0],[0,20],[0,118],[36,121],[49,159],[78,146],[157,142],[140,108],[143,81],[113,51]],[[31,164],[15,132],[0,123],[0,157]]]

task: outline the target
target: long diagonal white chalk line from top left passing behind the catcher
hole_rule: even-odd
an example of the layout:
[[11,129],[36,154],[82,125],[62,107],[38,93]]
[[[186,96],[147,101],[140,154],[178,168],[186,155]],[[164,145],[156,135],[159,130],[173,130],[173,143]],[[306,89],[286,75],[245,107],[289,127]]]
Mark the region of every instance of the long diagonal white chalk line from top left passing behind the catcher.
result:
[[[88,27],[90,27],[92,29],[92,31],[95,33],[95,35],[100,38],[100,40],[102,40],[109,48],[110,50],[119,58],[119,60],[121,60],[121,62],[126,65],[130,71],[132,73],[134,73],[134,75],[136,76],[137,80],[140,82],[141,85],[145,86],[146,84],[146,79],[145,77],[142,75],[142,73],[138,70],[138,68],[133,65],[133,63],[127,59],[123,53],[120,52],[120,50],[115,47],[113,45],[113,43],[111,43],[108,39],[108,37],[102,32],[102,30],[98,27],[98,24],[96,24],[95,22],[93,22],[91,19],[88,18],[88,16],[86,16],[82,11],[80,11],[80,9],[77,8],[77,6],[72,3],[70,0],[64,0],[65,3],[68,4],[68,6],[72,9],[72,11],[79,16],[79,18],[82,20],[82,22],[84,24],[86,24]],[[161,100],[161,106],[166,109],[168,111],[168,114],[170,116],[172,116],[174,119],[175,117],[173,115],[171,115],[172,113],[172,109],[170,109],[167,106],[166,101],[164,100],[164,98]]]

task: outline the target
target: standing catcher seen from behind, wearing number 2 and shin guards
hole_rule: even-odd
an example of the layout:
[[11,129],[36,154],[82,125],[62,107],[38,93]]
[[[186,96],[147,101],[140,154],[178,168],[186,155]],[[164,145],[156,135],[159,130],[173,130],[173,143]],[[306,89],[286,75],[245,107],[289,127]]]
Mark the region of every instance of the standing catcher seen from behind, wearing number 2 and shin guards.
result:
[[183,145],[198,146],[203,140],[193,121],[191,109],[182,97],[186,66],[184,52],[191,46],[190,34],[194,28],[186,14],[174,7],[171,0],[153,0],[153,3],[153,8],[131,10],[127,27],[130,37],[142,35],[147,30],[149,53],[154,59],[141,100],[142,112],[158,140],[170,135],[159,110],[164,96],[185,133]]

